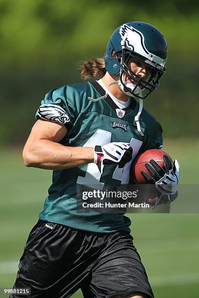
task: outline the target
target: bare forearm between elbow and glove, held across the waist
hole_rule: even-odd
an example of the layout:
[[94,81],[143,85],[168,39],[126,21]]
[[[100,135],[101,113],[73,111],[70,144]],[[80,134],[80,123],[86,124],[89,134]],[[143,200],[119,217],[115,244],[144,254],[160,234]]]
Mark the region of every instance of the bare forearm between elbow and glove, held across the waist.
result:
[[37,146],[24,147],[23,160],[27,167],[43,169],[75,168],[94,162],[92,147],[68,147],[46,139],[40,139]]

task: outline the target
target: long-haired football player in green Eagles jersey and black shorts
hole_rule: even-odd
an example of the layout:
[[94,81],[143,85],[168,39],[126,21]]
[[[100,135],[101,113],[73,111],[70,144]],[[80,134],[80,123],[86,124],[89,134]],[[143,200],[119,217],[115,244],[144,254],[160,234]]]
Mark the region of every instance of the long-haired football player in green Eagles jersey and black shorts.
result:
[[[167,43],[157,28],[128,22],[113,33],[103,59],[82,65],[81,78],[101,79],[45,95],[23,159],[27,167],[53,170],[53,181],[14,287],[29,287],[31,297],[42,298],[66,298],[78,289],[86,298],[154,297],[129,218],[80,212],[77,185],[128,184],[134,158],[162,147],[161,126],[142,106],[158,88],[166,59]],[[150,183],[159,186],[167,175],[176,189],[177,164],[167,173],[156,170]]]

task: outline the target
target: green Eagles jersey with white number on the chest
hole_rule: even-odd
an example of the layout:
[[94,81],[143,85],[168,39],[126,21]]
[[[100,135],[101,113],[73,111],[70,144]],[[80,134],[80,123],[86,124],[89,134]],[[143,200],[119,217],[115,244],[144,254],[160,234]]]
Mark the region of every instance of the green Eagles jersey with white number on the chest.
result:
[[[68,130],[60,141],[64,146],[94,147],[111,142],[130,143],[133,148],[131,162],[147,149],[161,148],[161,126],[144,109],[139,117],[143,136],[137,130],[134,118],[139,111],[139,104],[135,99],[132,98],[130,106],[124,109],[119,109],[109,95],[97,102],[88,99],[98,98],[101,93],[104,90],[96,81],[53,89],[42,100],[36,119],[43,118],[64,125]],[[131,162],[124,168],[104,165],[102,173],[94,163],[54,170],[40,219],[93,232],[130,232],[130,219],[123,214],[81,213],[76,203],[77,184],[95,185],[99,189],[103,189],[104,184],[128,184]]]

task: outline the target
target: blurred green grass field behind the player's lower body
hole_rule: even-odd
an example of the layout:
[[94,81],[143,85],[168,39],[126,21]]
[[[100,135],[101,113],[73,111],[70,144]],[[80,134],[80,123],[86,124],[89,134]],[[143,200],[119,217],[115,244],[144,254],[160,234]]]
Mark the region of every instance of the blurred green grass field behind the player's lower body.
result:
[[[199,140],[165,141],[163,149],[178,157],[180,184],[199,184]],[[51,175],[51,171],[25,168],[19,149],[0,150],[0,288],[13,286],[23,246],[37,222]],[[134,244],[155,297],[198,298],[199,214],[129,216]],[[73,297],[82,297],[81,292]]]

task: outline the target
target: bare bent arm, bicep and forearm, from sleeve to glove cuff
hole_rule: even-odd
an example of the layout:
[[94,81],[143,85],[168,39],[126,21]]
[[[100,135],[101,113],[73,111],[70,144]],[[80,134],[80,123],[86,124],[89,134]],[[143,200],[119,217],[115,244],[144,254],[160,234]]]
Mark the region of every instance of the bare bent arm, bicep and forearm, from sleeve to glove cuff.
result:
[[25,166],[58,170],[93,163],[92,147],[69,147],[59,144],[66,134],[67,129],[63,125],[39,119],[23,149]]

